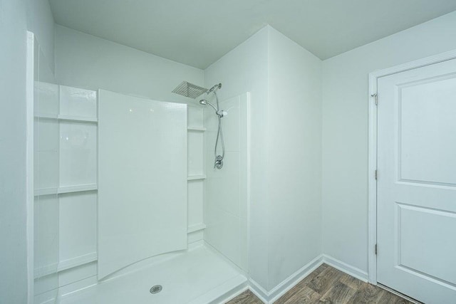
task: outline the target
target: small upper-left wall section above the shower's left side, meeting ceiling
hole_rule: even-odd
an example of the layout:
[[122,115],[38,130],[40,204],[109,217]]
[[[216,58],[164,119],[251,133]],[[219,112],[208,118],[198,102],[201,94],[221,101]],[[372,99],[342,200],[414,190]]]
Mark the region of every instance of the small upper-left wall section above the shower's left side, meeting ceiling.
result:
[[35,34],[49,68],[54,70],[54,19],[48,0],[27,0],[27,28]]

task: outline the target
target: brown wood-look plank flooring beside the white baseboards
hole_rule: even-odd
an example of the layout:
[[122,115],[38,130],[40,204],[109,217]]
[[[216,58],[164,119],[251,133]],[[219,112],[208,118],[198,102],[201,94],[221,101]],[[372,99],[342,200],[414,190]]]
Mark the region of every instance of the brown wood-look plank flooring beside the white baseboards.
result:
[[[250,290],[238,295],[227,304],[261,304]],[[336,268],[322,264],[275,304],[304,303],[395,303],[409,304],[408,300],[378,286],[365,283]]]

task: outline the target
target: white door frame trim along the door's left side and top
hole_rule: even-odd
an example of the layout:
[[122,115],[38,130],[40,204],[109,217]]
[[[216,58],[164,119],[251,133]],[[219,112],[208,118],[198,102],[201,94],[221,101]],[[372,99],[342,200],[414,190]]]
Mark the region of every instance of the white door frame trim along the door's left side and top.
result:
[[[377,285],[377,80],[388,75],[456,58],[456,50],[369,73],[368,87],[368,281]],[[381,172],[378,172],[381,178]],[[378,248],[380,251],[381,248]]]

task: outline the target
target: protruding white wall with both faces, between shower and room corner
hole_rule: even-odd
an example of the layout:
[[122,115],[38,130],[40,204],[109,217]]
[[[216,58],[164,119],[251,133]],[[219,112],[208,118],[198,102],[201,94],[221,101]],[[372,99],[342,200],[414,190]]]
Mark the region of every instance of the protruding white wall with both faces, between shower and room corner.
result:
[[321,254],[321,61],[266,26],[204,80],[252,93],[249,274],[269,291]]

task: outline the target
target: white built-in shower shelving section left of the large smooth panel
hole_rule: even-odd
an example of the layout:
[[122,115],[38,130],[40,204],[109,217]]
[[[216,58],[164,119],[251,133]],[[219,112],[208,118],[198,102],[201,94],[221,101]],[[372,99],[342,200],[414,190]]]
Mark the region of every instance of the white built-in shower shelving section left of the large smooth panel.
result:
[[97,93],[35,82],[36,303],[96,275]]

